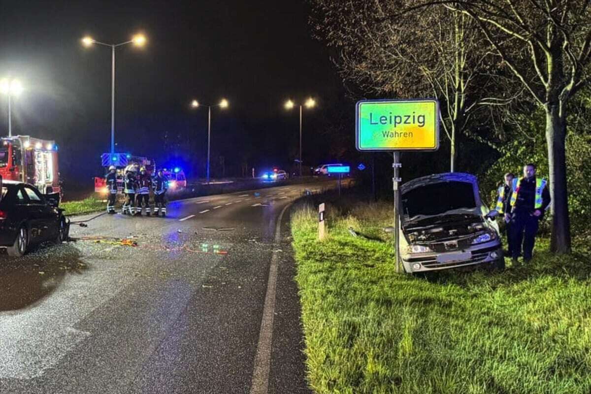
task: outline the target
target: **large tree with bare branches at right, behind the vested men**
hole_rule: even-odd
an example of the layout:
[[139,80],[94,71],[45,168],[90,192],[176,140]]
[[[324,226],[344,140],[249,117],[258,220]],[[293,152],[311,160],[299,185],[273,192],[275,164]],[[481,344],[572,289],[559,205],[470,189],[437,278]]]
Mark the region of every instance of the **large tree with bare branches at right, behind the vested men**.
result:
[[570,100],[591,80],[590,1],[463,0],[431,4],[444,4],[476,21],[489,46],[544,109],[553,200],[551,250],[570,252],[566,120]]

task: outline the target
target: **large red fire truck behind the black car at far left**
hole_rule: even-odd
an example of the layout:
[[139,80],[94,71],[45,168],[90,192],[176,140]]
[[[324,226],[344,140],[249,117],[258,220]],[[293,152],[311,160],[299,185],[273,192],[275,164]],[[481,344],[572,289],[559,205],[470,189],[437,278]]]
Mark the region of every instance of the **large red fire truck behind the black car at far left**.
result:
[[16,135],[0,138],[0,175],[34,185],[43,194],[61,193],[55,141]]

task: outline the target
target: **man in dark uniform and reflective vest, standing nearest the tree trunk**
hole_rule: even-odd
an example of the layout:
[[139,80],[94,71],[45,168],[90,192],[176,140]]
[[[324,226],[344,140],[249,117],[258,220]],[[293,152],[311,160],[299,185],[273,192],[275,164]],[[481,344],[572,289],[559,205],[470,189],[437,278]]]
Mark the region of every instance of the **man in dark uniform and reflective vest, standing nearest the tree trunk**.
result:
[[531,260],[540,219],[550,204],[547,182],[536,177],[535,171],[535,164],[526,164],[523,167],[524,177],[515,178],[511,185],[512,194],[505,220],[511,221],[513,262],[517,262],[522,246],[523,261],[527,263]]

